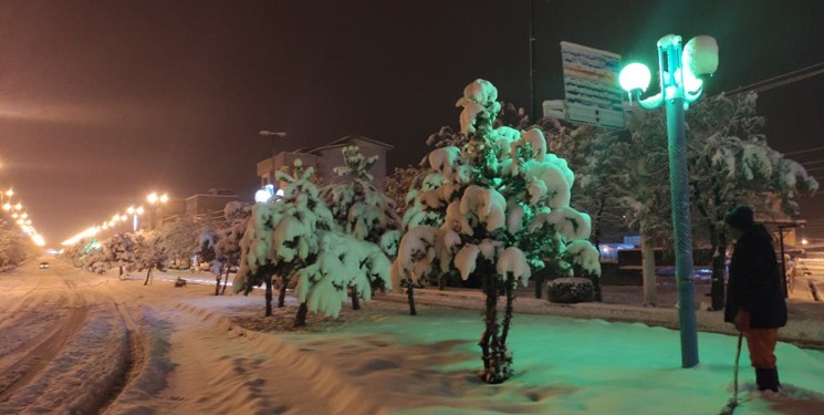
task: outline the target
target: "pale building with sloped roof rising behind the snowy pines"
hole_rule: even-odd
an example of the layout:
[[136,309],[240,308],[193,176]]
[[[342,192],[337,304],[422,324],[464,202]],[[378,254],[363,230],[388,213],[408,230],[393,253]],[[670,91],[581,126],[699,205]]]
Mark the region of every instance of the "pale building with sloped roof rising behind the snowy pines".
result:
[[[377,162],[369,170],[375,178],[378,188],[386,186],[386,154],[395,148],[394,146],[380,143],[371,138],[358,135],[348,135],[335,142],[317,147],[299,148],[294,152],[282,152],[273,158],[269,157],[258,162],[258,177],[260,186],[272,184],[274,181],[274,172],[286,167],[291,170],[295,159],[301,159],[304,166],[312,166],[315,169],[315,177],[321,183],[328,184],[338,180],[334,173],[335,167],[344,166],[342,151],[346,146],[358,146],[365,157],[377,156]],[[277,188],[280,186],[275,186]]]

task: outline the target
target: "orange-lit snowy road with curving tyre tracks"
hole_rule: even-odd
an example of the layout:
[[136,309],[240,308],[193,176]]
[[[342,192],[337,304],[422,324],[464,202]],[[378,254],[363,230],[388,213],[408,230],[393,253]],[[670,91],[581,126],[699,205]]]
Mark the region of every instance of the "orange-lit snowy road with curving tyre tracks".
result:
[[[337,391],[311,380],[334,374],[307,370],[300,359],[290,365],[271,359],[296,350],[273,336],[232,332],[228,319],[185,305],[187,295],[210,300],[204,290],[168,281],[145,287],[138,276],[119,281],[60,260],[41,270],[38,262],[0,274],[0,414],[333,414],[347,407]],[[220,298],[222,305],[251,300]],[[303,400],[306,393],[323,398]],[[368,407],[365,402],[358,407]]]

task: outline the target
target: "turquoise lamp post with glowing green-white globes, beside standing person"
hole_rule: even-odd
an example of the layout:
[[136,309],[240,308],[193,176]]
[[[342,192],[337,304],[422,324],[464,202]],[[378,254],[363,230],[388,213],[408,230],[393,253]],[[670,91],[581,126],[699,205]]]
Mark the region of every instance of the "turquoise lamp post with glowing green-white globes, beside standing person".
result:
[[640,94],[646,90],[651,77],[649,70],[640,63],[628,64],[619,75],[620,86],[629,93],[630,102],[637,102],[644,110],[655,110],[661,105],[666,107],[682,367],[692,367],[698,364],[689,175],[684,115],[689,103],[701,95],[703,82],[698,76],[711,75],[716,69],[718,69],[718,44],[715,39],[707,35],[696,37],[681,50],[681,37],[667,34],[658,40],[660,79],[658,94],[640,98]]

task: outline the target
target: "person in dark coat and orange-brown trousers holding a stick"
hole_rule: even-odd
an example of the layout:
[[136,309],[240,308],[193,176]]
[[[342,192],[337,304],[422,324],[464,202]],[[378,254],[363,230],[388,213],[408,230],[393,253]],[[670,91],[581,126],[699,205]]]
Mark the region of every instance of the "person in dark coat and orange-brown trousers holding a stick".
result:
[[730,260],[724,321],[747,338],[759,391],[779,392],[775,343],[786,324],[786,302],[772,238],[753,212],[739,206],[724,217],[736,248]]

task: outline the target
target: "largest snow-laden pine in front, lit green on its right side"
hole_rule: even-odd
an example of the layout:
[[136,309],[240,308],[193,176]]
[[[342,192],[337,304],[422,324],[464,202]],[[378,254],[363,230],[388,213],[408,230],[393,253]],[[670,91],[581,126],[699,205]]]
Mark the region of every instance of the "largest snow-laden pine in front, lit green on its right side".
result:
[[[477,273],[486,294],[486,330],[479,341],[488,383],[512,374],[507,347],[514,288],[526,284],[544,261],[559,274],[598,276],[598,252],[586,238],[590,217],[570,207],[574,174],[566,162],[546,153],[540,129],[492,126],[500,110],[498,91],[484,80],[463,90],[461,147],[429,154],[429,188],[407,211],[409,230],[393,263],[393,281],[411,288],[431,272],[456,268],[462,278]],[[430,215],[435,212],[435,215]],[[429,218],[442,217],[439,227]],[[434,267],[438,267],[437,269]],[[502,318],[498,300],[505,295]],[[410,301],[410,311],[414,311]]]

